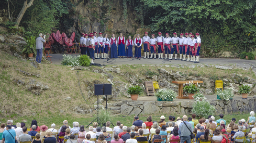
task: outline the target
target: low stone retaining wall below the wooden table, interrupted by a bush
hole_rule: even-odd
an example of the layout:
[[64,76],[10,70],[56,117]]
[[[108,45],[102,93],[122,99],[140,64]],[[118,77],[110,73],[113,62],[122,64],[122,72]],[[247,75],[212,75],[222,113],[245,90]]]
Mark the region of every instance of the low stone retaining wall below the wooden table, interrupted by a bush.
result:
[[[249,113],[256,110],[256,97],[252,99],[209,100],[216,114]],[[120,101],[109,107],[113,114],[140,115],[155,113],[192,114],[195,101]]]

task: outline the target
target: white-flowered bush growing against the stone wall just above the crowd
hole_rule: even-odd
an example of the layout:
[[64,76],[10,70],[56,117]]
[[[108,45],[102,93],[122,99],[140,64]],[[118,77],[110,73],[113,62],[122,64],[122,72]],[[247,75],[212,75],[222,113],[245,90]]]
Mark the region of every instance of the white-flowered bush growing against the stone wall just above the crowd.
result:
[[215,108],[210,105],[209,101],[197,101],[193,103],[192,112],[200,118],[208,118],[208,115],[215,115]]

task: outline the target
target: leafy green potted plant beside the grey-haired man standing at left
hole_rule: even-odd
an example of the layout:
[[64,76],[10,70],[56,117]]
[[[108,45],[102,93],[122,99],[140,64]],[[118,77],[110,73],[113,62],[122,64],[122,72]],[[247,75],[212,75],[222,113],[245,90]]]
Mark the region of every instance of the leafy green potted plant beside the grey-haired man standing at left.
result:
[[22,52],[28,54],[28,57],[33,57],[33,54],[36,53],[36,37],[27,37],[26,42],[27,45],[23,48]]

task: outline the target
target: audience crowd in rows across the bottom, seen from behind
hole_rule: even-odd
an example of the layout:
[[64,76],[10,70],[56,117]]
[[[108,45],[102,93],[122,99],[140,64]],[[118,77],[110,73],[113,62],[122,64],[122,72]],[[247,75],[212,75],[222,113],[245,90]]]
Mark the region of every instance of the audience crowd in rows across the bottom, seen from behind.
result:
[[[12,120],[8,120],[6,124],[1,123],[0,143],[15,143],[15,139],[18,142],[31,141],[32,143],[137,143],[138,141],[242,143],[246,141],[246,137],[255,142],[255,116],[253,111],[250,114],[247,122],[241,119],[236,123],[236,119],[233,118],[228,125],[223,114],[219,115],[220,119],[217,121],[212,115],[209,115],[208,119],[199,120],[195,119],[195,114],[190,118],[186,115],[182,118],[170,115],[167,122],[163,115],[159,122],[152,121],[151,116],[148,116],[146,122],[134,116],[131,127],[117,121],[112,130],[109,127],[109,121],[103,127],[99,127],[98,123],[94,122],[93,126],[88,128],[88,132],[83,125],[79,126],[78,122],[73,122],[73,128],[71,128],[66,120],[63,121],[59,131],[55,129],[54,123],[51,124],[51,128],[46,125],[39,127],[37,121],[33,120],[28,130],[25,123],[17,123],[15,126]],[[195,138],[191,138],[191,134],[194,134]]]

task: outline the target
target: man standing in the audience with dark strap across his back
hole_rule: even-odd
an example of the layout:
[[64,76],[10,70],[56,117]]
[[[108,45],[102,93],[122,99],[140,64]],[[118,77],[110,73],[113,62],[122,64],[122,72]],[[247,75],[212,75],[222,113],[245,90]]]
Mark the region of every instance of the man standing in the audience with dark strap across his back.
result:
[[179,136],[181,137],[181,142],[184,143],[184,141],[186,141],[186,143],[191,143],[190,135],[192,131],[193,131],[192,125],[189,122],[187,122],[187,116],[184,115],[183,122],[179,126]]

